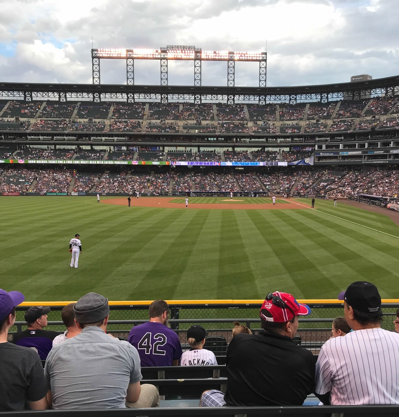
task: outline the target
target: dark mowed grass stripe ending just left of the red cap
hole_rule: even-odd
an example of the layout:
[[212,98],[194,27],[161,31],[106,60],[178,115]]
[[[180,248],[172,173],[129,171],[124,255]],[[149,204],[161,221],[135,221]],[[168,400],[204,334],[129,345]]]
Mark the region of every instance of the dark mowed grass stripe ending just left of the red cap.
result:
[[[249,248],[248,248],[249,249]],[[239,294],[245,286],[255,285],[255,277],[248,259],[235,210],[222,211],[220,223],[219,267],[217,271],[217,298],[223,294]]]

